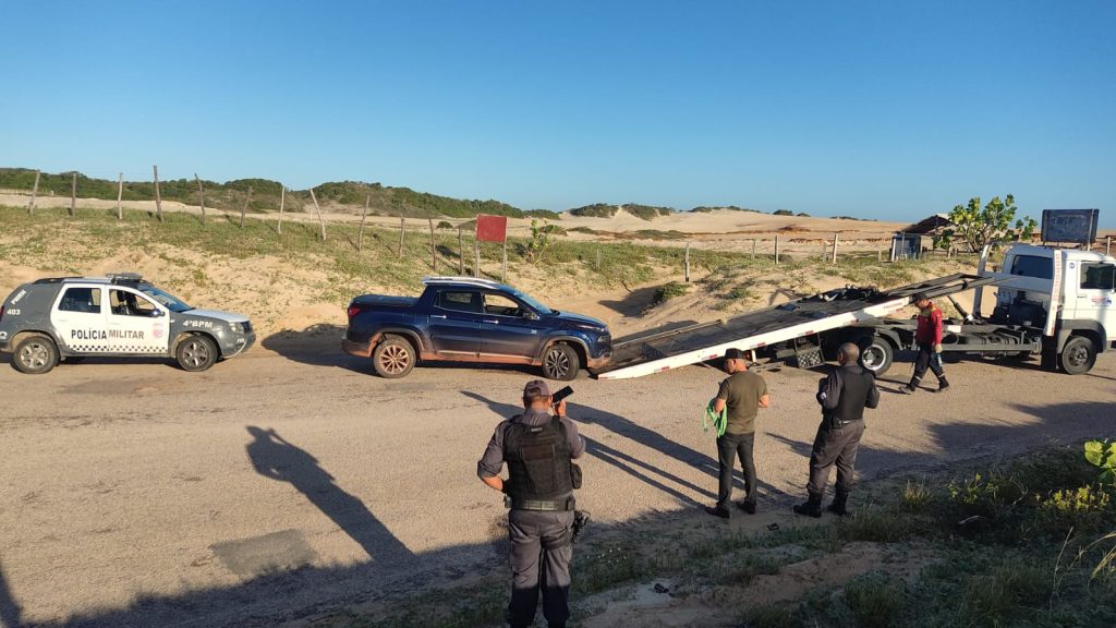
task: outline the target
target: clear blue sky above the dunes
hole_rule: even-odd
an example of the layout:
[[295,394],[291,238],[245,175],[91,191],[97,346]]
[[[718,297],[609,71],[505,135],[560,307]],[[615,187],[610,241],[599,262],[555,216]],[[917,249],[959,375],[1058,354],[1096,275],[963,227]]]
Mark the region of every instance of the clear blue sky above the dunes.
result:
[[1116,227],[1116,2],[0,0],[0,165]]

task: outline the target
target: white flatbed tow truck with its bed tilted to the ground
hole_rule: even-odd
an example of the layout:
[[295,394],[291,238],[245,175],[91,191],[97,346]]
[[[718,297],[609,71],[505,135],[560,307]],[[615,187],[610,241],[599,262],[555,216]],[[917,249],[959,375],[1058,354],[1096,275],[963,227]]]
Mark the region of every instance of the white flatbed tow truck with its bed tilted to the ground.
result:
[[[593,372],[603,380],[637,378],[715,360],[729,348],[756,362],[821,364],[844,342],[860,346],[860,360],[885,373],[898,351],[914,348],[915,324],[892,317],[914,295],[949,298],[961,318],[943,325],[946,354],[1039,356],[1043,368],[1079,374],[1098,353],[1116,349],[1116,258],[1099,253],[1014,245],[1002,268],[954,274],[888,291],[847,286],[711,323],[616,339],[613,358]],[[997,286],[992,315],[980,315],[983,289]],[[973,312],[955,295],[977,291]]]

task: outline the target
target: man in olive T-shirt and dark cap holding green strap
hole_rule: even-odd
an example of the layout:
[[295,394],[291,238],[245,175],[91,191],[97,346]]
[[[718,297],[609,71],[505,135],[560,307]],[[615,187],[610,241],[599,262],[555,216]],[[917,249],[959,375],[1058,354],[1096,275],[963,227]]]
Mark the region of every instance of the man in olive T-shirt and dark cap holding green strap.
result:
[[724,352],[724,372],[729,377],[721,382],[721,388],[713,399],[713,411],[721,413],[728,410],[724,435],[716,439],[719,486],[716,505],[705,506],[705,512],[729,518],[732,503],[732,467],[737,458],[744,470],[744,499],[737,507],[748,514],[756,514],[756,463],[752,459],[752,446],[756,443],[756,416],[760,408],[771,406],[767,382],[759,374],[748,370],[744,352],[729,349]]

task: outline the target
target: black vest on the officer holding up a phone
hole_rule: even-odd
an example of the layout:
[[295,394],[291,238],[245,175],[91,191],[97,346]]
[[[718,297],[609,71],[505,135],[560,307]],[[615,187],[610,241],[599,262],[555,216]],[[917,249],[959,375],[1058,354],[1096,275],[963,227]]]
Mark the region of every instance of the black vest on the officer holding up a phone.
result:
[[508,424],[503,459],[508,463],[507,492],[513,501],[557,499],[574,491],[569,441],[558,417],[543,426]]

